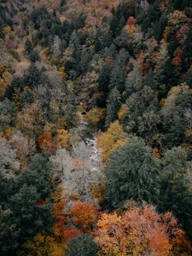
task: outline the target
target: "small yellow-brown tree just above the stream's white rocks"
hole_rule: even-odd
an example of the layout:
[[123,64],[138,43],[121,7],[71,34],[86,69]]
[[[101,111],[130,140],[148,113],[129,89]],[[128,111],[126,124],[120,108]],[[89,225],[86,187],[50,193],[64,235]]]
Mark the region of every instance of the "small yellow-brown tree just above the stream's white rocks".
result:
[[92,108],[86,113],[84,119],[90,124],[98,124],[105,119],[106,109],[105,108]]

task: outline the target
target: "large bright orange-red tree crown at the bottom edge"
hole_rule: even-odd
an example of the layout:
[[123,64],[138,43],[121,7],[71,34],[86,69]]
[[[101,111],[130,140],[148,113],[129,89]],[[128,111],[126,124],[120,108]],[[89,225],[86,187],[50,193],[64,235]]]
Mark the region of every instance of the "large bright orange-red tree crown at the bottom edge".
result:
[[150,206],[132,207],[120,216],[103,213],[97,226],[96,242],[108,255],[166,256],[172,250],[173,237],[184,237],[172,212],[160,215]]

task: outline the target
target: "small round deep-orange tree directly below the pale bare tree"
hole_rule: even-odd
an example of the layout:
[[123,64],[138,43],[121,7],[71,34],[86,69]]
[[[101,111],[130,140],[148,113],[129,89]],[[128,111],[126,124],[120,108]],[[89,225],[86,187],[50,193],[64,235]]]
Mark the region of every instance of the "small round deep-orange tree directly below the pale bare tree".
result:
[[81,201],[76,202],[68,212],[73,223],[84,232],[90,232],[96,225],[98,213],[95,206]]

